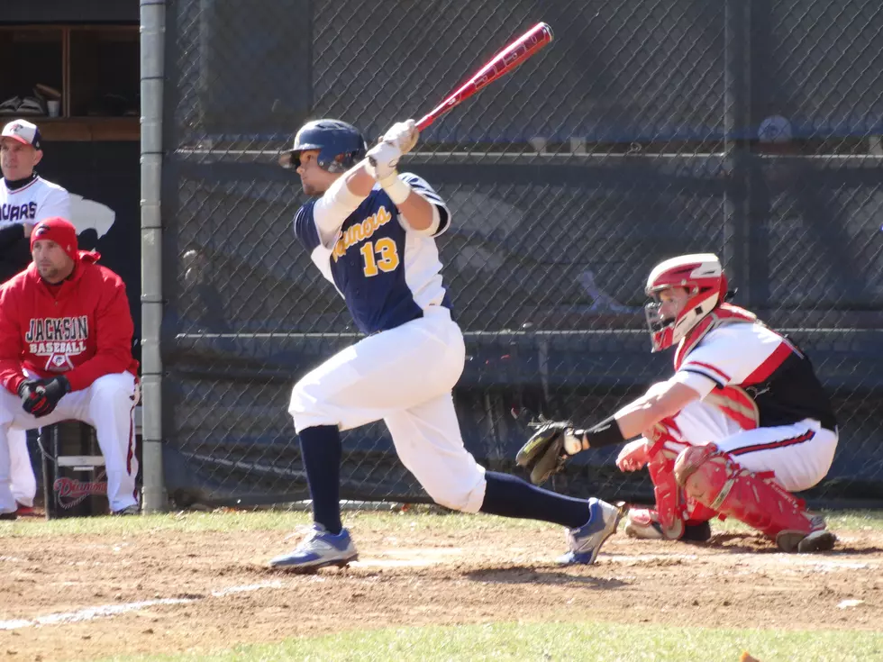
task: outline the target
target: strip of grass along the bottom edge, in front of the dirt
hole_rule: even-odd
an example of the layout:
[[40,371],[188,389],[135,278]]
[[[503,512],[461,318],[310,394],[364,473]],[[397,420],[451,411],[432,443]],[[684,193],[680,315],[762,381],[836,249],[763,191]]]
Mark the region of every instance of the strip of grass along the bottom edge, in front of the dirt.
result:
[[883,634],[847,630],[709,630],[610,623],[512,623],[356,630],[209,653],[112,657],[163,660],[678,660],[736,662],[748,651],[775,660],[883,660]]

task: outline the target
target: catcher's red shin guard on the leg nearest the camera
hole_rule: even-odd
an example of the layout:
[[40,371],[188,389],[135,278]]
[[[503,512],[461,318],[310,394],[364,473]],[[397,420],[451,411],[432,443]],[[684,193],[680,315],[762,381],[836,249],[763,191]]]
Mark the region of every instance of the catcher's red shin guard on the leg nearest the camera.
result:
[[806,512],[804,503],[771,474],[751,473],[715,444],[683,450],[675,462],[675,478],[687,496],[763,532],[785,551],[824,530],[824,519]]

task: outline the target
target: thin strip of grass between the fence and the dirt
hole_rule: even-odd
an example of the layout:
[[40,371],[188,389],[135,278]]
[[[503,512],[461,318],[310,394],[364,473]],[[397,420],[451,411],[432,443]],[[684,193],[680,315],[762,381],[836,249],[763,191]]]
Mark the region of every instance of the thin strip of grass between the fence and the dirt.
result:
[[[825,513],[833,531],[883,531],[883,511]],[[0,522],[0,538],[53,537],[70,535],[144,535],[155,531],[286,531],[306,524],[306,512],[183,512],[141,517],[88,517],[43,521],[27,518]],[[535,529],[536,521],[510,520],[488,515],[435,513],[416,508],[414,512],[346,512],[350,527],[382,528],[390,533],[403,531],[487,531],[489,529]],[[542,524],[541,524],[542,525]],[[715,531],[742,531],[737,521],[714,521]],[[553,526],[553,525],[550,525]]]

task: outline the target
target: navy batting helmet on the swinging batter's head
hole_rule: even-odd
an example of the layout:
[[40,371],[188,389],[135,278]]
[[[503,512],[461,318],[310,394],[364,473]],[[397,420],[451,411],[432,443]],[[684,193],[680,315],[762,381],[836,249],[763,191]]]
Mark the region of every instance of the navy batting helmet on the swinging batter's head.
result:
[[279,155],[279,165],[294,170],[300,166],[300,153],[306,150],[319,150],[319,167],[336,173],[346,172],[364,159],[368,146],[352,124],[340,120],[314,120],[306,122],[297,131],[294,147]]

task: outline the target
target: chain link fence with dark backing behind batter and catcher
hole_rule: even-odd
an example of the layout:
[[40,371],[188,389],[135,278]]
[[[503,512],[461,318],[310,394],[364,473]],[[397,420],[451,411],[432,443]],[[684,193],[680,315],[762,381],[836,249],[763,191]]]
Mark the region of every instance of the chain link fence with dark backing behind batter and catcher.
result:
[[[182,505],[308,492],[291,386],[357,340],[296,245],[276,157],[308,119],[369,138],[439,103],[514,35],[555,41],[423,133],[403,163],[451,206],[443,276],[466,335],[467,447],[512,468],[529,408],[597,421],[670,373],[642,285],[724,258],[833,395],[818,503],[883,503],[883,9],[865,0],[168,5],[162,355],[166,484]],[[633,499],[584,453],[554,488]],[[344,436],[345,497],[421,501],[382,424]]]

